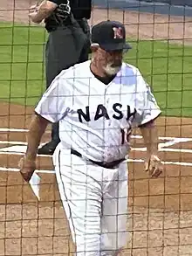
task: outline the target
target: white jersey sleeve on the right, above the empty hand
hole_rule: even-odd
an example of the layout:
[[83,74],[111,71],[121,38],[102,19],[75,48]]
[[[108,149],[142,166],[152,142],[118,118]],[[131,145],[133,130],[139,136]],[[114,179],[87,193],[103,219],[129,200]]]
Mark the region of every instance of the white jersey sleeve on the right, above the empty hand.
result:
[[150,86],[143,79],[139,70],[136,73],[136,94],[135,94],[135,122],[141,126],[152,121],[161,114],[161,109],[151,92]]

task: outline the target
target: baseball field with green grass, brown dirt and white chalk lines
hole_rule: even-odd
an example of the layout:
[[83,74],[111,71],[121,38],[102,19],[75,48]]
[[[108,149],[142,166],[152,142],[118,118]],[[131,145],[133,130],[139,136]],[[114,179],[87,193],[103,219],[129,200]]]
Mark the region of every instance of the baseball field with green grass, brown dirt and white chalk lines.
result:
[[[29,22],[31,4],[0,1],[0,255],[71,255],[75,247],[51,172],[51,157],[38,157],[40,201],[17,167],[33,107],[45,91],[47,34],[42,25]],[[184,15],[188,7],[182,16],[170,11],[157,14],[158,3],[152,7],[152,12],[143,11],[143,6],[142,11],[104,10],[94,3],[89,22],[109,18],[126,25],[133,50],[125,60],[140,68],[163,113],[157,121],[164,162],[161,177],[151,179],[143,171],[140,132],[132,137],[129,239],[122,254],[187,256],[192,252],[191,17]],[[44,142],[49,137],[48,130]]]

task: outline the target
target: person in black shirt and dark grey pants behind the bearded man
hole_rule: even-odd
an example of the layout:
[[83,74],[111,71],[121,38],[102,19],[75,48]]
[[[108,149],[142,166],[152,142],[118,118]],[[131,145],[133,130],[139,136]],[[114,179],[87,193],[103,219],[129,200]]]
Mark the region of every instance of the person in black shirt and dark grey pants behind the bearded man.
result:
[[[45,21],[49,33],[45,47],[46,88],[62,70],[88,59],[92,0],[49,0],[31,6],[34,23]],[[39,155],[52,155],[58,142],[58,123],[52,125],[51,142],[38,149]]]

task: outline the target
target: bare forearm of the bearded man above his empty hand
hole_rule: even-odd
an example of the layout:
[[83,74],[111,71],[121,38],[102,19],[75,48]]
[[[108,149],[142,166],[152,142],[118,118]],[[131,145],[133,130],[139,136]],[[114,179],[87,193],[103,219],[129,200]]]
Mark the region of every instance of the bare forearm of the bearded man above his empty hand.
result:
[[141,127],[141,134],[143,136],[143,141],[147,147],[148,155],[157,155],[158,154],[158,131],[154,125],[154,121],[149,122],[148,124]]

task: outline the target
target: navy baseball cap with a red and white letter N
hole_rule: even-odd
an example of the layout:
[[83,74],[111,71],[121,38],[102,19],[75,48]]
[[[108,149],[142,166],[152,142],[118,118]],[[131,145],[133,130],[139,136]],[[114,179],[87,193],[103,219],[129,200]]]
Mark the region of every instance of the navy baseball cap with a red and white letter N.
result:
[[92,28],[92,45],[99,45],[106,51],[128,50],[131,45],[126,43],[126,29],[118,21],[102,21]]

